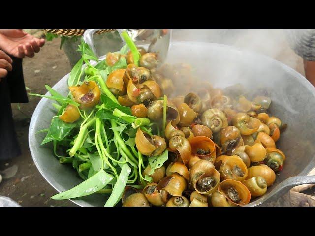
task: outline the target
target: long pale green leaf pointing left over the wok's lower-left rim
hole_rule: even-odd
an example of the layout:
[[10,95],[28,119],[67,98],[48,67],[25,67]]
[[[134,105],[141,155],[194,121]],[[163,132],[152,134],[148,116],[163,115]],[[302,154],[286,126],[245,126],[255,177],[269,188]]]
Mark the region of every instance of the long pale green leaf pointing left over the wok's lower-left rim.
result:
[[90,195],[100,189],[103,189],[113,178],[114,177],[112,175],[107,174],[104,170],[100,170],[94,176],[83,181],[79,185],[63,193],[56,194],[51,197],[51,199],[63,200]]

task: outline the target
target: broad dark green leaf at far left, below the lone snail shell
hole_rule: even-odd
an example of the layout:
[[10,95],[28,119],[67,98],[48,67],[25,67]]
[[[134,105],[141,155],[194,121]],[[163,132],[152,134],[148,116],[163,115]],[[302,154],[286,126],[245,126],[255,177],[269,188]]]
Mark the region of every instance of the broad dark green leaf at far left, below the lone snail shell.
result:
[[54,117],[51,121],[49,132],[54,139],[61,141],[77,125],[77,123],[66,123],[59,117]]

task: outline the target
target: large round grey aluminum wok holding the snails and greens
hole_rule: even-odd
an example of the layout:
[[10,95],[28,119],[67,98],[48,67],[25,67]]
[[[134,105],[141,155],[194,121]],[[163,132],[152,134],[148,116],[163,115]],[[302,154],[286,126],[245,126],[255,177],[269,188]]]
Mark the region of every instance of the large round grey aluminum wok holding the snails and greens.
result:
[[[173,42],[167,61],[191,64],[200,78],[215,87],[225,88],[241,83],[248,91],[262,89],[272,99],[270,112],[288,124],[277,142],[287,159],[268,192],[247,206],[257,206],[278,199],[291,187],[315,183],[315,176],[305,176],[315,167],[315,88],[299,73],[274,59],[236,48],[202,42]],[[68,75],[54,87],[68,93]],[[177,85],[180,86],[180,85]],[[55,115],[51,101],[38,103],[30,123],[29,145],[33,160],[42,176],[59,192],[68,190],[82,180],[70,165],[62,165],[50,145],[41,146],[44,133]],[[103,206],[105,195],[94,194],[71,200],[80,206]]]

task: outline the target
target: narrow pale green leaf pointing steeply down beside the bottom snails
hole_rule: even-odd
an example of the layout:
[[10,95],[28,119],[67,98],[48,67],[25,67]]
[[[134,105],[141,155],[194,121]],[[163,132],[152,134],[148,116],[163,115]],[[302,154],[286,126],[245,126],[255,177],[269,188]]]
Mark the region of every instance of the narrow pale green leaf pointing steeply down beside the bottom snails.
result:
[[126,187],[130,172],[131,168],[128,166],[127,163],[124,164],[122,167],[122,171],[120,172],[119,177],[113,188],[113,192],[108,198],[104,207],[114,207],[119,202]]

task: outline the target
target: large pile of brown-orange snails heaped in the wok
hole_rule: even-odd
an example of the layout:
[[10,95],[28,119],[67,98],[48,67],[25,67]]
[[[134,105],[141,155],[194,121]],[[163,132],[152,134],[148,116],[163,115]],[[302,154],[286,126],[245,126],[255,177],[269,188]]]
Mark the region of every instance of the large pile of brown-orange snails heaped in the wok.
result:
[[[189,65],[157,69],[156,54],[139,52],[140,66],[128,53],[127,68],[113,71],[106,84],[134,116],[160,124],[159,98],[167,95],[164,135],[150,136],[139,128],[135,142],[147,157],[165,149],[169,156],[153,174],[150,165],[143,171],[153,182],[141,190],[126,187],[123,206],[243,206],[264,195],[285,161],[276,142],[286,125],[267,114],[271,99],[223,94],[198,81]],[[106,59],[115,62],[119,55]]]

